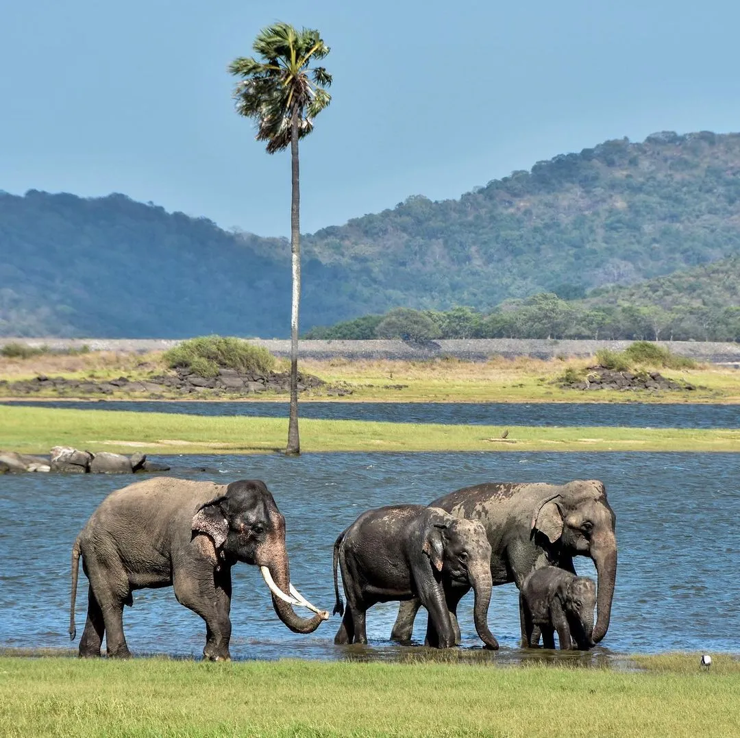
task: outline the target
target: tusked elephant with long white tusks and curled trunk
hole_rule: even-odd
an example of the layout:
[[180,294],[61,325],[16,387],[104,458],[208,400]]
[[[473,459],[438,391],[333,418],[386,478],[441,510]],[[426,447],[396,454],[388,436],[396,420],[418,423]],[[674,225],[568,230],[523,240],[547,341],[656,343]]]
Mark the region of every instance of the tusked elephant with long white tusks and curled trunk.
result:
[[[290,581],[285,518],[260,480],[228,485],[158,477],[118,489],[92,513],[72,549],[70,638],[75,639],[79,559],[90,586],[82,657],[129,657],[124,604],[132,591],[172,586],[181,605],[206,621],[206,660],[229,660],[231,568],[260,567],[277,617],[295,633],[312,633],[329,613],[314,607]],[[299,617],[292,605],[314,615]]]

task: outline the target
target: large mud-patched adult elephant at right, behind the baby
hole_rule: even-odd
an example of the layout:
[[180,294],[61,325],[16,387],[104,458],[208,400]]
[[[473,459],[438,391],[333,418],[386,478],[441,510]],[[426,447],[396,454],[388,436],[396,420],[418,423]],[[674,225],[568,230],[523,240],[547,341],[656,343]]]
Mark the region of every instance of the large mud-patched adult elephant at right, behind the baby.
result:
[[[521,589],[531,571],[548,564],[575,574],[573,556],[591,557],[598,575],[593,642],[602,640],[609,628],[617,563],[616,515],[604,483],[483,483],[445,494],[431,506],[455,517],[480,520],[491,543],[494,586],[514,582]],[[453,594],[450,611],[457,620],[457,603],[465,590],[457,588]],[[393,640],[411,640],[420,604],[418,599],[401,603],[391,632]],[[428,637],[429,631],[430,625]]]

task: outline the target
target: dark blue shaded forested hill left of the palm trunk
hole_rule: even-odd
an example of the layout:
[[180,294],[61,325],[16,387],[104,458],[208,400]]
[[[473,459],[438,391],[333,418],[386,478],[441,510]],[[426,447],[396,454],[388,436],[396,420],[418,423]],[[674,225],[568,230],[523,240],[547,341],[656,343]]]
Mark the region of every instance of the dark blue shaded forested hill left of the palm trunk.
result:
[[[282,338],[289,255],[284,239],[237,238],[125,195],[0,192],[0,335]],[[306,321],[333,320],[314,295],[341,271],[304,260]]]

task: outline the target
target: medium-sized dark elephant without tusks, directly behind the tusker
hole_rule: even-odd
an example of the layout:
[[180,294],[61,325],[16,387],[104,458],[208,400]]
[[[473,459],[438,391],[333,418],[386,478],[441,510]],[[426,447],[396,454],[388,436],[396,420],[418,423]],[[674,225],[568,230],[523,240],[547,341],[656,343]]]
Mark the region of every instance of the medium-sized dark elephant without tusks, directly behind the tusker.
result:
[[[447,598],[457,586],[475,592],[475,627],[487,648],[499,644],[488,630],[491,546],[476,520],[455,518],[423,505],[394,505],[363,512],[334,543],[334,614],[343,615],[334,643],[367,643],[365,616],[375,603],[417,597],[434,623],[428,645],[449,648],[460,640]],[[339,594],[337,563],[347,597]]]

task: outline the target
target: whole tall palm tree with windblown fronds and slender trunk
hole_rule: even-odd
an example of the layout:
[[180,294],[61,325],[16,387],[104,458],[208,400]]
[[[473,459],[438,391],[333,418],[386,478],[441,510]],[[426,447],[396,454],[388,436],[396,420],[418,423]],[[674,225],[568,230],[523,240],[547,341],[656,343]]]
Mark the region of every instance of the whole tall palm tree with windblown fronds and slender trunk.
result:
[[290,245],[292,252],[292,305],[290,318],[290,420],[286,454],[300,454],[298,437],[298,306],[300,303],[300,188],[298,140],[309,135],[314,118],[329,105],[326,87],[332,76],[324,67],[309,64],[324,58],[329,47],[317,30],[296,30],[288,23],[263,28],[252,48],[260,57],[241,56],[229,64],[229,73],[240,77],[234,90],[239,115],[253,118],[257,140],[267,142],[274,154],[290,146],[292,199]]

